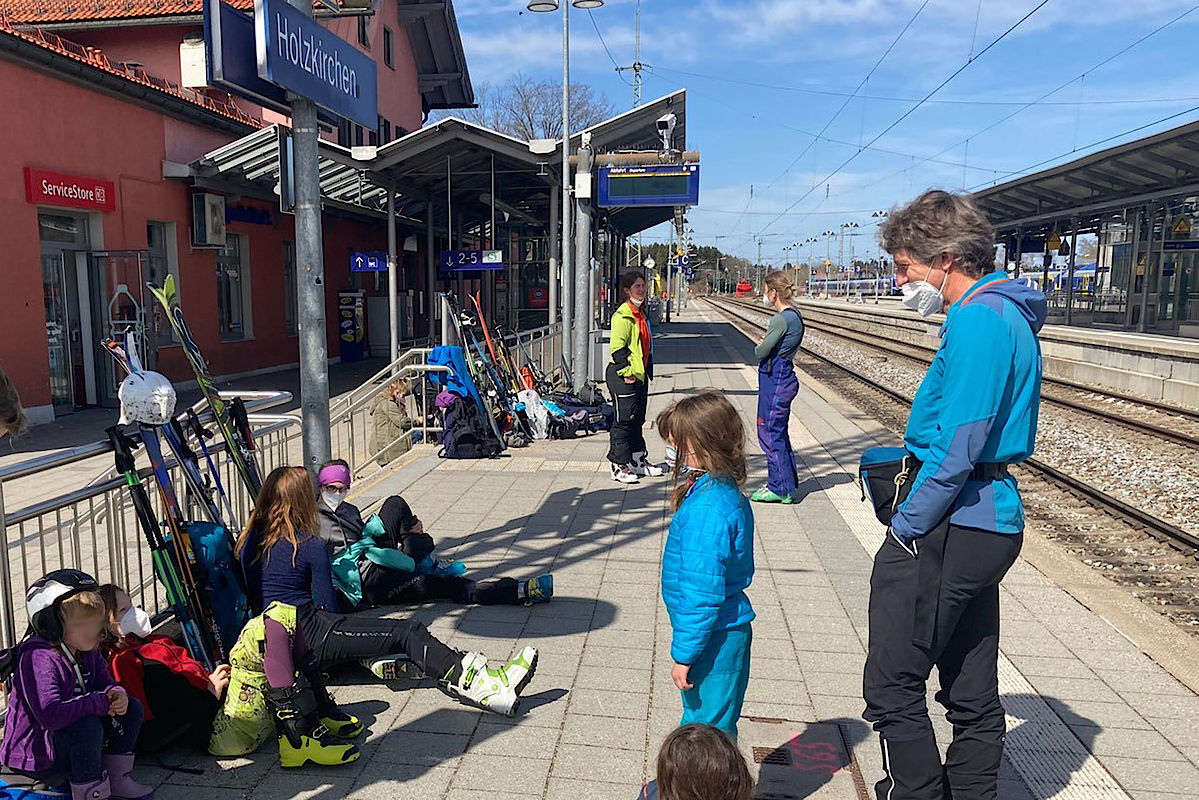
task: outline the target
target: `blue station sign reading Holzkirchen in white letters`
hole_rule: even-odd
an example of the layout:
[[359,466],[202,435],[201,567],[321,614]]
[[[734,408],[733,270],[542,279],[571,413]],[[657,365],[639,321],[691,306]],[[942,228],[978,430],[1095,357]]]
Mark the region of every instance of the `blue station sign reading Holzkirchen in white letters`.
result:
[[258,74],[368,130],[379,125],[375,62],[287,0],[254,0]]

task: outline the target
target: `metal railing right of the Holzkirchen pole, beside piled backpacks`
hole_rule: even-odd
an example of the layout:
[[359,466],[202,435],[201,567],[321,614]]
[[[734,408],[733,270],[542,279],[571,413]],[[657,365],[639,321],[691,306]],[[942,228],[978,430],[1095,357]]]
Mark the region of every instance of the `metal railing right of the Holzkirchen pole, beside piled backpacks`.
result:
[[[546,375],[555,375],[561,363],[561,323],[530,331],[508,333],[504,341],[518,365],[532,362]],[[397,458],[420,441],[428,443],[441,425],[433,398],[440,391],[430,375],[448,372],[448,367],[428,362],[432,348],[412,348],[382,367],[360,386],[330,405],[333,456],[345,459],[359,481],[370,480],[388,469]],[[390,441],[378,441],[374,414],[380,403],[391,402],[384,395],[391,381],[408,378],[411,389],[404,398],[412,427]],[[380,426],[381,427],[381,426]]]

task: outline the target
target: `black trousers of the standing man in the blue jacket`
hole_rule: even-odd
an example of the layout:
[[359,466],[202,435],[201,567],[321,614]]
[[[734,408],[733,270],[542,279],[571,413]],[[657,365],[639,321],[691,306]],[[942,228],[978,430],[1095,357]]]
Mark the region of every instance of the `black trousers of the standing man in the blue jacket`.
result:
[[[999,582],[1023,534],[942,523],[909,552],[887,531],[870,573],[866,718],[882,742],[879,800],[995,800],[1004,754],[999,702]],[[941,764],[926,682],[953,726]]]

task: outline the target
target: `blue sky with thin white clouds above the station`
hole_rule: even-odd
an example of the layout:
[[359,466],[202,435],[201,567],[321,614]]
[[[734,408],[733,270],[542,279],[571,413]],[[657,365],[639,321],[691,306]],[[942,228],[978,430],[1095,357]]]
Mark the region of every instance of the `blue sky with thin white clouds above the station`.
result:
[[[474,82],[561,80],[561,14],[525,5],[454,4]],[[571,10],[571,79],[617,112],[635,7]],[[836,259],[824,233],[856,222],[845,254],[873,257],[872,215],[926,188],[980,190],[1199,119],[1197,35],[1189,0],[643,0],[643,101],[687,90],[695,243]]]

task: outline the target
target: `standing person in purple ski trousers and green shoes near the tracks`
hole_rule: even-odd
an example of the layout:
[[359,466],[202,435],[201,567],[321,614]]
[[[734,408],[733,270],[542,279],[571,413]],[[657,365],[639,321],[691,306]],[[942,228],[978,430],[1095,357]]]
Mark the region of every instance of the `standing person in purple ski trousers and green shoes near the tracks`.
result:
[[754,492],[754,503],[795,503],[800,479],[789,427],[791,401],[800,392],[795,377],[795,353],[803,341],[803,318],[791,305],[795,282],[790,272],[770,272],[761,291],[763,302],[776,313],[766,333],[753,349],[758,359],[758,444],[766,453],[766,486]]

